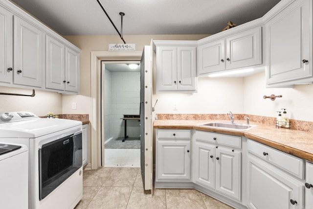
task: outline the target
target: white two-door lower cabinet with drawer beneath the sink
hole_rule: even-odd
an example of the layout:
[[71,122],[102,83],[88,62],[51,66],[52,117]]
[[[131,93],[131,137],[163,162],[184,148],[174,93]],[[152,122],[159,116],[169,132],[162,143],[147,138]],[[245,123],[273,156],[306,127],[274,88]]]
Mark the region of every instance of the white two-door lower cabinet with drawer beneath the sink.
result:
[[241,140],[235,136],[195,131],[193,182],[240,201],[241,150],[225,145],[229,137]]

